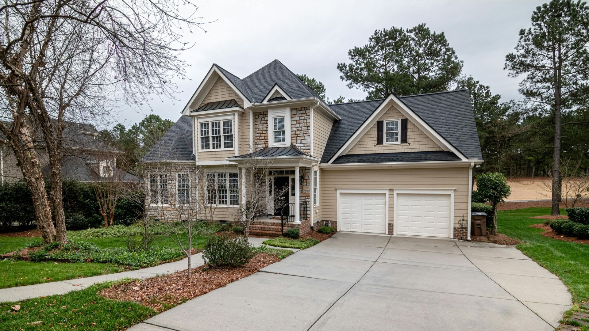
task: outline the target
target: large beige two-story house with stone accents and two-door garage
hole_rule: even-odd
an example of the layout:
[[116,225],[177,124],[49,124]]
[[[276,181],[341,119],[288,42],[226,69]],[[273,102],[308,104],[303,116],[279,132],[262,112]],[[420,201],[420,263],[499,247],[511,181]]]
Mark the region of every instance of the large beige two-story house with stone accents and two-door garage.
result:
[[[161,207],[177,204],[177,192],[204,194],[194,183],[203,166],[217,183],[215,220],[235,221],[246,204],[240,166],[264,157],[273,160],[269,194],[291,186],[289,226],[301,233],[330,224],[469,237],[472,168],[482,156],[467,90],[329,105],[280,61],[243,79],[214,64],[181,113],[142,160],[153,170],[148,216],[169,216]],[[277,212],[268,214],[253,233],[279,231]]]

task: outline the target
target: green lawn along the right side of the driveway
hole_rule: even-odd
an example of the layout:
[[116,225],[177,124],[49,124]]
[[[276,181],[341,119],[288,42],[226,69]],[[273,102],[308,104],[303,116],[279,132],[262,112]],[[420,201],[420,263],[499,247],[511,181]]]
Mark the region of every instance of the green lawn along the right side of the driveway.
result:
[[[564,214],[564,210],[561,210]],[[499,211],[497,226],[501,233],[523,240],[518,249],[532,260],[556,274],[573,295],[575,303],[589,300],[589,245],[569,243],[542,236],[541,229],[530,227],[542,223],[532,216],[550,214],[550,208],[524,208]]]

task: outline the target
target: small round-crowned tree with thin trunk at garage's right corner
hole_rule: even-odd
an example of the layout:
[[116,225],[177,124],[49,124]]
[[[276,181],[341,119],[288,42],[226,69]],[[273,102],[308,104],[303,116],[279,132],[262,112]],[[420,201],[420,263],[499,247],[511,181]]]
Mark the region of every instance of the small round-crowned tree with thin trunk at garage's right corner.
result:
[[511,187],[502,173],[482,173],[477,176],[477,192],[484,201],[491,203],[492,229],[491,234],[497,234],[497,204],[505,201],[511,194]]

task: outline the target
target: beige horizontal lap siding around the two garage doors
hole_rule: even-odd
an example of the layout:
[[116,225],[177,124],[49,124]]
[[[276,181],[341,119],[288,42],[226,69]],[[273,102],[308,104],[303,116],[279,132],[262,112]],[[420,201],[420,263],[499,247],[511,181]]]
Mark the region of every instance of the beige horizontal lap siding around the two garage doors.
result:
[[337,220],[336,188],[389,188],[389,224],[393,223],[393,188],[455,188],[454,226],[468,213],[469,168],[325,170],[319,182],[322,220]]

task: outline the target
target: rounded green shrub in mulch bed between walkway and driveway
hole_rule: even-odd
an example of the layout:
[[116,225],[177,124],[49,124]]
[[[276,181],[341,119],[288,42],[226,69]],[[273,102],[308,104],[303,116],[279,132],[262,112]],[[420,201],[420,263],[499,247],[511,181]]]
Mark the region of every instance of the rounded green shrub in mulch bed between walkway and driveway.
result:
[[246,237],[210,236],[204,245],[203,260],[211,267],[239,267],[255,254]]

